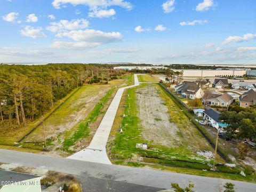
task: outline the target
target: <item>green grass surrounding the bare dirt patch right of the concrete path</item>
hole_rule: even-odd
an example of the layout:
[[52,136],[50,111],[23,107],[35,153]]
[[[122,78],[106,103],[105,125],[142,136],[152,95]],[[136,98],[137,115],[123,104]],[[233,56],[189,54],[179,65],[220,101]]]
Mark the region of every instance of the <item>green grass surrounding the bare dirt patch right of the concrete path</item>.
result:
[[[143,86],[147,85],[144,84],[140,85],[139,87]],[[170,122],[174,122],[181,131],[179,134],[181,134],[181,141],[183,143],[182,146],[171,147],[156,145],[154,142],[146,141],[140,136],[143,127],[141,127],[139,124],[140,119],[137,117],[137,106],[135,102],[135,89],[139,89],[139,87],[134,87],[129,89],[127,93],[129,97],[126,98],[126,107],[124,109],[125,117],[123,117],[121,123],[121,127],[123,127],[124,132],[122,134],[117,133],[115,147],[113,147],[111,150],[112,155],[118,159],[132,158],[134,154],[138,154],[139,156],[143,157],[166,160],[165,163],[168,163],[170,159],[205,163],[204,159],[202,159],[202,157],[199,158],[195,154],[196,151],[191,151],[191,149],[189,150],[188,146],[196,146],[196,148],[200,148],[201,150],[212,151],[213,148],[210,145],[205,145],[205,142],[207,141],[189,121],[187,116],[183,114],[178,106],[175,106],[175,103],[167,97],[166,93],[162,89],[159,89],[158,85],[155,86],[158,87],[159,97],[162,97],[167,107],[170,108]],[[153,150],[142,150],[135,148],[136,143],[143,142],[147,142],[149,148],[153,148]],[[220,162],[223,162],[220,157],[218,158]]]

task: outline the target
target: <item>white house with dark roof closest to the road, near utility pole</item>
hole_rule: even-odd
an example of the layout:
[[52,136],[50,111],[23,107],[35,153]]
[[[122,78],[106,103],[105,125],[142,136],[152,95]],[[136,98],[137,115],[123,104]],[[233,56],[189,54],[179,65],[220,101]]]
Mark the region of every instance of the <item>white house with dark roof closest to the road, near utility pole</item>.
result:
[[207,122],[207,124],[215,129],[219,129],[220,132],[225,132],[223,128],[227,127],[227,124],[219,120],[221,113],[211,107],[205,107],[205,109],[203,119]]

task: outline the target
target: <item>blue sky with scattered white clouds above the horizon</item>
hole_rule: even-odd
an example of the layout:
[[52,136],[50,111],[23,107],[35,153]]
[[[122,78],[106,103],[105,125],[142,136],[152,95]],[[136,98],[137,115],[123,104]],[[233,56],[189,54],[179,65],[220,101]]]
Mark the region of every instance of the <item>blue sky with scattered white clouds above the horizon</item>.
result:
[[0,63],[253,64],[255,7],[255,0],[0,0]]

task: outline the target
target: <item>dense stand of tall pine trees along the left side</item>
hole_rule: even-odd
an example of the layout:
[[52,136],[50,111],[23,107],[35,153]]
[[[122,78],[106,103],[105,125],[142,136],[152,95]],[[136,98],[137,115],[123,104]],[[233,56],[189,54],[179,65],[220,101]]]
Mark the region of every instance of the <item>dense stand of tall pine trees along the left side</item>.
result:
[[[84,83],[108,83],[124,70],[105,65],[0,65],[0,121],[26,126]],[[93,79],[93,81],[91,81]]]

